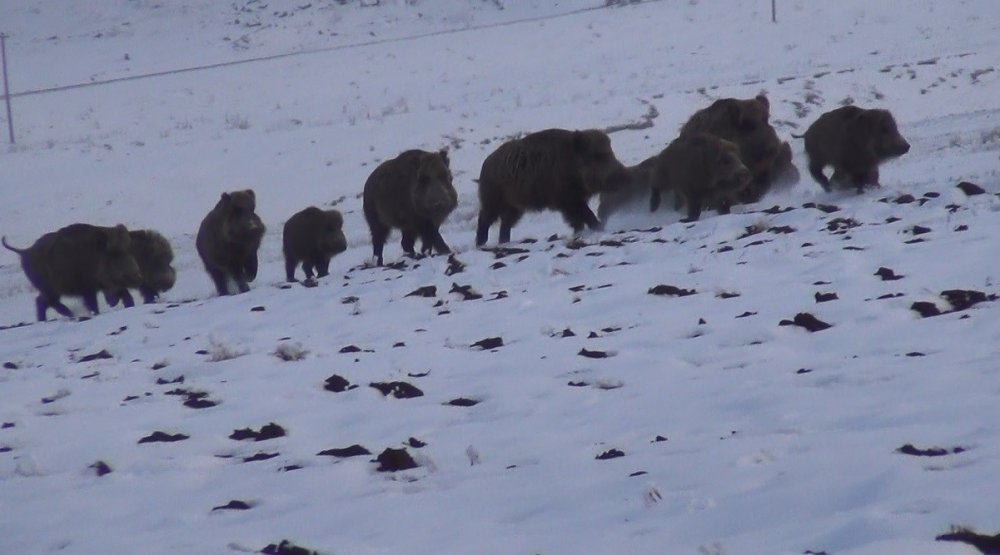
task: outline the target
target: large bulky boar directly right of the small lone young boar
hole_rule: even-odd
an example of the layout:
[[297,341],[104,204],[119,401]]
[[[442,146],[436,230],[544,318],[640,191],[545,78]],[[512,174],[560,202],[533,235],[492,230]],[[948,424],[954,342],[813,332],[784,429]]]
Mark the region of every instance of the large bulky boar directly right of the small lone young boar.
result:
[[407,150],[378,165],[365,182],[362,204],[372,235],[372,253],[379,266],[392,229],[399,229],[403,251],[415,256],[419,237],[421,252],[451,252],[439,231],[458,206],[451,182],[448,152]]

